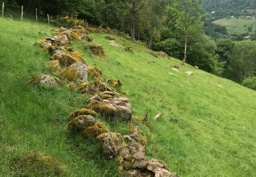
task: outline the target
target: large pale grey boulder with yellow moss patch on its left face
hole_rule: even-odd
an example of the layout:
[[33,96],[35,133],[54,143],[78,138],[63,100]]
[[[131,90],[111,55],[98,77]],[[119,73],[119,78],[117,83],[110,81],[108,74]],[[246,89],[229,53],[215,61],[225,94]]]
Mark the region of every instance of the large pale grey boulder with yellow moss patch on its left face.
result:
[[70,65],[62,74],[70,81],[87,82],[88,68],[85,63],[78,61]]

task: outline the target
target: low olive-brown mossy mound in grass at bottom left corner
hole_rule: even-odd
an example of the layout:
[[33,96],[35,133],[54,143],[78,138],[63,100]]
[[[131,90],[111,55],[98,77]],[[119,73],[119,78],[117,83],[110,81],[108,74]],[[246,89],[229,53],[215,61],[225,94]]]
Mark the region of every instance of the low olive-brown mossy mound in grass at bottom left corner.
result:
[[41,152],[29,151],[10,161],[14,176],[66,176],[67,168],[60,161]]

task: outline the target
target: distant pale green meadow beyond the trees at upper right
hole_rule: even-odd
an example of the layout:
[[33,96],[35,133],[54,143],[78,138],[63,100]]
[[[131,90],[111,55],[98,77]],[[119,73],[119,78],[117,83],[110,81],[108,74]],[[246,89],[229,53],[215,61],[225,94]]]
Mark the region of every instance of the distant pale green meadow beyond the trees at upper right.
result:
[[[214,23],[227,27],[227,32],[229,34],[254,34],[256,30],[256,19],[248,20],[244,18],[221,18],[214,21]],[[248,27],[252,27],[251,32],[248,32]]]

